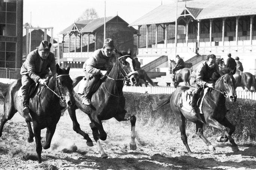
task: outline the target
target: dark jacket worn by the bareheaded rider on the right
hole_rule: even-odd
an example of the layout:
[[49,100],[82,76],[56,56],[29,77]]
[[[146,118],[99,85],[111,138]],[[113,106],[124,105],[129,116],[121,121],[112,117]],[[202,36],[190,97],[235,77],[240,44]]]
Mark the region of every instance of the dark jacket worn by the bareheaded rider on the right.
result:
[[212,80],[212,74],[216,73],[217,76],[220,76],[220,69],[218,64],[215,64],[215,67],[210,69],[210,67],[207,65],[207,61],[199,64],[199,66],[196,67],[196,69],[191,74],[191,79],[196,79],[196,83],[201,87],[206,87],[208,82],[211,82]]

